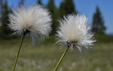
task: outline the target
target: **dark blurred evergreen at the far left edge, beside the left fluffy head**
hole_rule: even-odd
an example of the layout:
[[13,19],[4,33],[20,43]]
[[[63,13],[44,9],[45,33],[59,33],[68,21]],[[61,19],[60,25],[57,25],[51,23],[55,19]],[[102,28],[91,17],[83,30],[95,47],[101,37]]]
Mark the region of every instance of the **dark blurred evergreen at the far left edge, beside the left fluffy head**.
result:
[[7,0],[5,0],[4,4],[2,5],[2,12],[1,12],[1,27],[0,27],[0,33],[1,37],[3,38],[9,38],[11,31],[8,28],[9,24],[9,18],[8,15],[11,12],[11,9],[8,7]]

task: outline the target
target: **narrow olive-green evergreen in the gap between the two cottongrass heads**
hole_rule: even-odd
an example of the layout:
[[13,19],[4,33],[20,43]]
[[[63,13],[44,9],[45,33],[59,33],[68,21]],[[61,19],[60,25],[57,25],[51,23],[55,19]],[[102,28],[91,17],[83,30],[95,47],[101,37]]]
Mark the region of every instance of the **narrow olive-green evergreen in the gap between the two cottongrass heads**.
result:
[[54,0],[49,0],[48,4],[47,4],[47,8],[50,11],[51,15],[52,15],[52,32],[51,34],[55,34],[56,33],[56,27],[58,26],[58,10],[54,4]]

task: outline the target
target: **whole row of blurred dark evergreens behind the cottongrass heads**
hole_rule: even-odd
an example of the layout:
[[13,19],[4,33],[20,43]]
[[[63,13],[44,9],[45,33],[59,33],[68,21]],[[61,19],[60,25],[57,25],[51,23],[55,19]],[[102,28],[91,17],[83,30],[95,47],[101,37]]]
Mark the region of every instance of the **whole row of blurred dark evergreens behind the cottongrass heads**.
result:
[[[18,6],[24,5],[25,0],[20,0]],[[59,26],[58,19],[64,18],[63,16],[68,14],[79,14],[76,10],[75,3],[73,0],[62,0],[59,8],[56,7],[54,0],[49,0],[47,5],[44,5],[41,0],[37,0],[37,5],[42,5],[48,8],[52,18],[52,31],[50,35],[56,33],[57,27]],[[9,24],[9,13],[12,13],[11,7],[8,6],[7,0],[0,0],[0,37],[4,39],[11,38],[13,31],[11,31],[7,25]],[[104,20],[100,12],[99,7],[96,7],[96,11],[92,18],[92,32],[95,34],[105,34],[106,27]]]

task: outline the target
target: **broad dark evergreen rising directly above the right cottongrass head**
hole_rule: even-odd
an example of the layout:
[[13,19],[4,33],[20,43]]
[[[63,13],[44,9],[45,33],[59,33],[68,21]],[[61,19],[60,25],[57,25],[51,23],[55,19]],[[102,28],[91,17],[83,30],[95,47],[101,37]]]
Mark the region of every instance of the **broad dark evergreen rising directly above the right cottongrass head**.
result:
[[77,14],[73,0],[63,0],[60,4],[60,16],[68,14]]

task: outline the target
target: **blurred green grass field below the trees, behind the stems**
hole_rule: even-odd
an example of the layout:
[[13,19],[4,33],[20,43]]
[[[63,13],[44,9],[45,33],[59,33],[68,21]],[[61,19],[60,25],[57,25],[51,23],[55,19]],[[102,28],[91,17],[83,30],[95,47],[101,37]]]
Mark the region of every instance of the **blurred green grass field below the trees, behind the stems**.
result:
[[[52,44],[53,43],[53,44]],[[12,71],[20,40],[0,41],[0,71]],[[80,53],[70,49],[57,71],[113,71],[113,43],[95,43]],[[53,71],[65,47],[24,41],[15,71]]]

